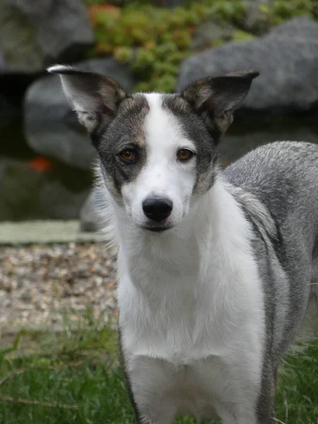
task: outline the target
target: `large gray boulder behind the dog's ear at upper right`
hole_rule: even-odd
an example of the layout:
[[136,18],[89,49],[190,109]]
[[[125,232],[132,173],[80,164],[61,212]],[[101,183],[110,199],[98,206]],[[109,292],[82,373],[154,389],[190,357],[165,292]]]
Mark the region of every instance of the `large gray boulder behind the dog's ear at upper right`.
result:
[[305,16],[250,42],[195,54],[182,64],[177,89],[204,76],[257,69],[244,107],[252,110],[310,110],[318,102],[318,23]]

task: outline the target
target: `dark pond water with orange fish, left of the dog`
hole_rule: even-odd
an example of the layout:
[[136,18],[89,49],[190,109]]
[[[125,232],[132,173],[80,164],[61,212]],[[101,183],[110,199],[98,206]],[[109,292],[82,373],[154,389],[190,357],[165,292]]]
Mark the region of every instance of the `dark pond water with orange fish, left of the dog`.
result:
[[21,122],[0,122],[0,140],[0,221],[78,218],[92,173],[33,152]]

